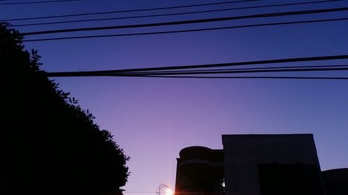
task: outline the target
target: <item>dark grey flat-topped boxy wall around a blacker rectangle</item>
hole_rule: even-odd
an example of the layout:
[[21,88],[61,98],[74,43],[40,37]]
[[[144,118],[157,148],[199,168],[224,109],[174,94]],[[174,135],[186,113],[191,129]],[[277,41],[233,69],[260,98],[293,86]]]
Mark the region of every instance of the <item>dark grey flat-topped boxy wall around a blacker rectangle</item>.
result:
[[312,134],[222,135],[222,139],[226,195],[262,195],[260,164],[314,165],[317,175],[309,178],[316,178],[319,194],[324,193]]

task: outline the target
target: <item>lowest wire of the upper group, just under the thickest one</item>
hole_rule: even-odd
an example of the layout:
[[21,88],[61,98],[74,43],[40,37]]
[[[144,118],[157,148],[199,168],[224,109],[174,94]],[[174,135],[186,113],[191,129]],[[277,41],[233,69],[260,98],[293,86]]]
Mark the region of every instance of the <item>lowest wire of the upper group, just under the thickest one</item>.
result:
[[234,29],[234,28],[251,28],[251,27],[261,27],[261,26],[278,26],[278,25],[289,25],[289,24],[335,22],[335,21],[344,21],[344,20],[348,20],[348,17],[335,18],[335,19],[306,20],[306,21],[296,21],[296,22],[248,24],[248,25],[241,25],[241,26],[225,26],[225,27],[216,27],[216,28],[197,28],[197,29],[179,30],[179,31],[158,31],[158,32],[150,32],[150,33],[125,33],[125,34],[113,34],[113,35],[87,35],[87,36],[72,36],[72,37],[53,37],[53,38],[40,38],[40,39],[23,40],[22,42],[40,42],[40,41],[51,41],[51,40],[74,40],[74,39],[100,38],[100,37],[125,37],[125,36],[136,36],[136,35],[159,35],[159,34],[169,34],[169,33],[189,33],[189,32],[198,32],[198,31],[216,31],[216,30]]

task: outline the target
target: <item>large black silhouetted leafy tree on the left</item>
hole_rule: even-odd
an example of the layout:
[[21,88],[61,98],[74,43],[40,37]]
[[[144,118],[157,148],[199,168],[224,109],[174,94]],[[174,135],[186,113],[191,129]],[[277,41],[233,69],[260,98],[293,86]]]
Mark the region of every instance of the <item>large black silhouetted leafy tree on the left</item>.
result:
[[0,24],[0,194],[122,194],[129,158]]

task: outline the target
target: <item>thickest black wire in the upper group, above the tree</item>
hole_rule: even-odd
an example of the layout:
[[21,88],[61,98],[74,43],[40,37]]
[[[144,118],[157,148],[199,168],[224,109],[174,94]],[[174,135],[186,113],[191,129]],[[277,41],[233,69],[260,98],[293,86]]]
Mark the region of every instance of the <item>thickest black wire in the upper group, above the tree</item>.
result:
[[260,17],[280,17],[280,16],[289,16],[289,15],[308,15],[308,14],[317,14],[324,12],[338,12],[346,11],[345,8],[332,8],[332,9],[321,9],[321,10],[302,10],[302,11],[292,11],[292,12],[271,12],[267,14],[258,14],[258,15],[244,15],[244,16],[235,16],[235,17],[216,17],[209,19],[193,19],[193,20],[182,20],[176,22],[159,22],[159,23],[150,23],[150,24],[132,24],[132,25],[120,25],[120,26],[100,26],[100,27],[88,27],[88,28],[68,28],[68,29],[58,29],[52,31],[35,31],[21,33],[22,35],[42,35],[42,34],[51,34],[51,33],[70,33],[77,31],[102,31],[110,29],[120,29],[120,28],[140,28],[140,27],[153,27],[153,26],[171,26],[178,24],[198,24],[205,22],[221,22],[234,19],[250,19],[250,18],[260,18]]

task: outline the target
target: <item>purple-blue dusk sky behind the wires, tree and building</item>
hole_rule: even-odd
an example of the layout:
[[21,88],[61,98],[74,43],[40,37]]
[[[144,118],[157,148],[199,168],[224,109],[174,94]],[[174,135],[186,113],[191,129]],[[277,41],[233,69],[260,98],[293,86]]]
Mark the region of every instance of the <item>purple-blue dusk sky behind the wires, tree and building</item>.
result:
[[[25,1],[0,1],[1,20],[185,6],[227,2],[227,0],[81,0],[56,3],[1,4],[10,2]],[[307,1],[247,1],[193,8],[123,12],[112,15],[12,21],[11,24],[128,17],[293,2]],[[15,28],[25,33],[60,28],[144,24],[342,7],[348,7],[348,1],[208,12],[195,15],[18,26]],[[348,12],[342,11],[180,26],[32,35],[25,37],[25,39],[172,31],[347,16]],[[41,62],[43,62],[41,69],[45,71],[93,71],[347,55],[347,32],[348,22],[345,20],[162,35],[24,42],[24,45],[26,49],[38,50],[39,55],[42,56]],[[347,65],[347,60],[303,62],[296,65],[331,64]],[[288,74],[282,74],[282,76]],[[310,75],[347,77],[348,71],[328,74],[319,72]],[[78,99],[82,108],[90,110],[96,117],[95,123],[102,129],[111,131],[117,144],[124,149],[126,155],[131,157],[131,160],[127,162],[131,174],[124,187],[128,194],[138,194],[139,192],[155,194],[155,190],[161,183],[174,187],[176,158],[179,158],[180,150],[187,146],[207,146],[212,149],[222,149],[221,135],[225,134],[313,133],[322,170],[348,167],[347,80],[120,77],[52,79],[60,83],[59,86],[62,90],[70,92],[71,96]]]

